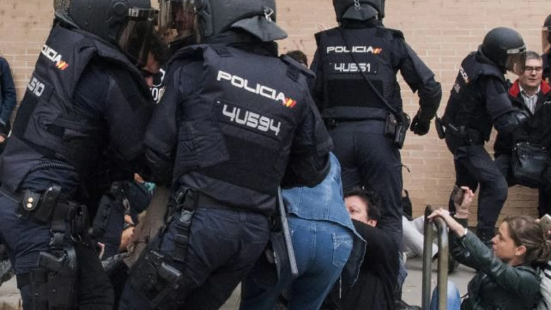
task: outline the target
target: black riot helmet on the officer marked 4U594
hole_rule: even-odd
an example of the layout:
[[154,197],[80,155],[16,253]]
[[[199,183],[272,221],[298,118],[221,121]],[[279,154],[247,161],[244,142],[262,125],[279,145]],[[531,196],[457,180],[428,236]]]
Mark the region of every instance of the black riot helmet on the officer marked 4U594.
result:
[[[159,0],[159,29],[173,30],[172,40],[195,34],[197,42],[231,29],[249,32],[263,42],[281,40],[287,32],[276,24],[275,0]],[[193,22],[192,22],[193,21]]]

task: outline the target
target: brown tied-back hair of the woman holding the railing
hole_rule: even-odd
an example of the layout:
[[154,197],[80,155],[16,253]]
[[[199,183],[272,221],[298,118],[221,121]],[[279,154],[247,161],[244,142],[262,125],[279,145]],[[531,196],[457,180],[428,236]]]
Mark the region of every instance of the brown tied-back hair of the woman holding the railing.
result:
[[524,262],[531,265],[547,264],[551,259],[551,241],[543,227],[530,216],[509,216],[505,219],[509,235],[517,247],[525,246]]

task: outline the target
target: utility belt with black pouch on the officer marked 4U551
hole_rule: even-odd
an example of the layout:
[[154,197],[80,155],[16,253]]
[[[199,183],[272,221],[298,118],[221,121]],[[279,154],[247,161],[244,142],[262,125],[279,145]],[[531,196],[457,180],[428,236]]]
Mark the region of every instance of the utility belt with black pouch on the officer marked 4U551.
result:
[[325,126],[327,129],[335,129],[339,123],[351,123],[361,121],[385,121],[385,136],[392,139],[392,144],[398,149],[402,149],[404,142],[406,142],[406,134],[411,124],[409,115],[405,112],[399,112],[398,117],[394,113],[388,113],[385,119],[380,118],[328,118],[325,119]]

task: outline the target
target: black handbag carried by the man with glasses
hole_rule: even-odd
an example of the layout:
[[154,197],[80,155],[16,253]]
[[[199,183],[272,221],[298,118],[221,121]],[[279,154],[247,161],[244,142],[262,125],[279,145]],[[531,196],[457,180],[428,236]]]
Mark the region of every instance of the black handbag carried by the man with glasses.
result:
[[511,156],[511,173],[516,183],[539,188],[548,160],[549,153],[542,146],[528,142],[517,143]]

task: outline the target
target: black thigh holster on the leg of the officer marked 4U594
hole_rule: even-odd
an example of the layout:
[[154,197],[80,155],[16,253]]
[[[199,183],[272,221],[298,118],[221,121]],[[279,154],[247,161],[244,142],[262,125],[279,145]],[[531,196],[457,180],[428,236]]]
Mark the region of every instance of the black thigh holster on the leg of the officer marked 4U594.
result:
[[131,270],[129,284],[134,292],[150,302],[153,309],[172,308],[171,301],[178,298],[182,285],[182,273],[172,267],[165,256],[146,249]]

